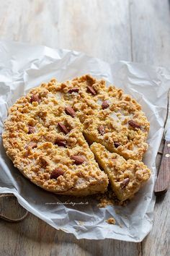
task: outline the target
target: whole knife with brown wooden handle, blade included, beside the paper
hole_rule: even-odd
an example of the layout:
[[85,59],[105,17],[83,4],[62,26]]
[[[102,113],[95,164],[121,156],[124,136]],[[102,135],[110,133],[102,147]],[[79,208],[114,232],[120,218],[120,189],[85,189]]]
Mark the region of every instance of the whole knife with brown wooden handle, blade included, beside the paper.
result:
[[169,187],[170,179],[170,116],[169,116],[169,97],[170,90],[168,93],[168,107],[166,114],[166,121],[164,125],[164,150],[161,158],[161,165],[154,188],[155,195],[162,195],[166,193]]

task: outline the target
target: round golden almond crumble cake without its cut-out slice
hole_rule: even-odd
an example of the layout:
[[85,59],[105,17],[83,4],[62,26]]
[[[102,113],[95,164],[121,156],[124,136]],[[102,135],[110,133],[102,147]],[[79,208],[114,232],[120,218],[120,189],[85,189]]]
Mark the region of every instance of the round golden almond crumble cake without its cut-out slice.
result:
[[108,185],[87,142],[141,160],[148,131],[148,120],[130,95],[84,75],[30,90],[9,108],[2,137],[14,166],[31,182],[81,196],[103,193]]

